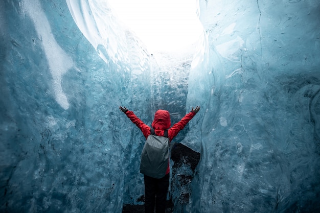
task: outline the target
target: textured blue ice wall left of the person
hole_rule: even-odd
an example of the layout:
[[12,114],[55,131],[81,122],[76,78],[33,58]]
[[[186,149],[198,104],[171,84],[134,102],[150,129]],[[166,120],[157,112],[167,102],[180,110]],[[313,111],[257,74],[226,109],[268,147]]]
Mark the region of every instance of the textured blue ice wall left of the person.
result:
[[131,160],[142,135],[131,133],[118,106],[146,122],[151,115],[149,70],[137,68],[147,69],[148,59],[138,42],[123,38],[131,57],[116,64],[105,55],[105,63],[65,1],[0,8],[0,211],[121,212],[126,188],[143,194]]

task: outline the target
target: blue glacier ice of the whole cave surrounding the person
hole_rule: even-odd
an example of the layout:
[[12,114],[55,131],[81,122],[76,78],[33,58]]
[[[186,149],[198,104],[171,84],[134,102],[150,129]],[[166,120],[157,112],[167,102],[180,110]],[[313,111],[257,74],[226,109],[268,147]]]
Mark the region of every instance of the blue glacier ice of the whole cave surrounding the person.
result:
[[107,1],[0,1],[1,212],[142,205],[144,138],[120,105],[146,124],[201,106],[174,141],[201,157],[173,212],[320,212],[320,2],[197,4],[202,35],[169,54]]

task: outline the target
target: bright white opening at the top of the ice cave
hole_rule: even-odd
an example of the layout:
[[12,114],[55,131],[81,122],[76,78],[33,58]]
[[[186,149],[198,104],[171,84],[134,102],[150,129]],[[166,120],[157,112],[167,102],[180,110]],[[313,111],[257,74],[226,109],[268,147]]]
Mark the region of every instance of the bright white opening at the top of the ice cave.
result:
[[112,11],[151,51],[177,51],[202,33],[196,0],[108,0]]

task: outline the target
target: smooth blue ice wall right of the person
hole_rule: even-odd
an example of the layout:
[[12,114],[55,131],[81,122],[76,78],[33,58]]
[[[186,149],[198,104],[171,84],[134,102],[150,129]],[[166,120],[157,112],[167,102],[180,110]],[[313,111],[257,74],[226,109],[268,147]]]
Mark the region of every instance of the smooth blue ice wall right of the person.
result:
[[189,77],[188,103],[206,111],[187,137],[201,132],[188,212],[319,211],[319,12],[200,1],[210,52]]

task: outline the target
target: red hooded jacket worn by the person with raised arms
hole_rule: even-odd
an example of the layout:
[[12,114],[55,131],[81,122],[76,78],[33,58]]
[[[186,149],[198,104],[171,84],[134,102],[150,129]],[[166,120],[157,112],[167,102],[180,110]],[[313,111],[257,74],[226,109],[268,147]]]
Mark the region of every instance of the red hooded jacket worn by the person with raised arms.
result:
[[[189,112],[186,114],[178,123],[174,124],[171,128],[171,121],[170,121],[170,114],[167,110],[159,109],[155,112],[154,120],[151,124],[151,126],[154,129],[154,132],[158,136],[164,136],[165,130],[168,129],[168,138],[171,141],[180,130],[185,128],[185,126],[188,124],[188,122],[193,118],[195,115],[195,112]],[[148,138],[150,133],[150,127],[143,123],[139,117],[137,117],[132,111],[126,111],[126,115],[129,117],[129,119],[132,121],[133,124],[135,124],[139,129],[142,131],[143,135]],[[168,162],[168,169],[166,174],[169,174],[170,167]]]

